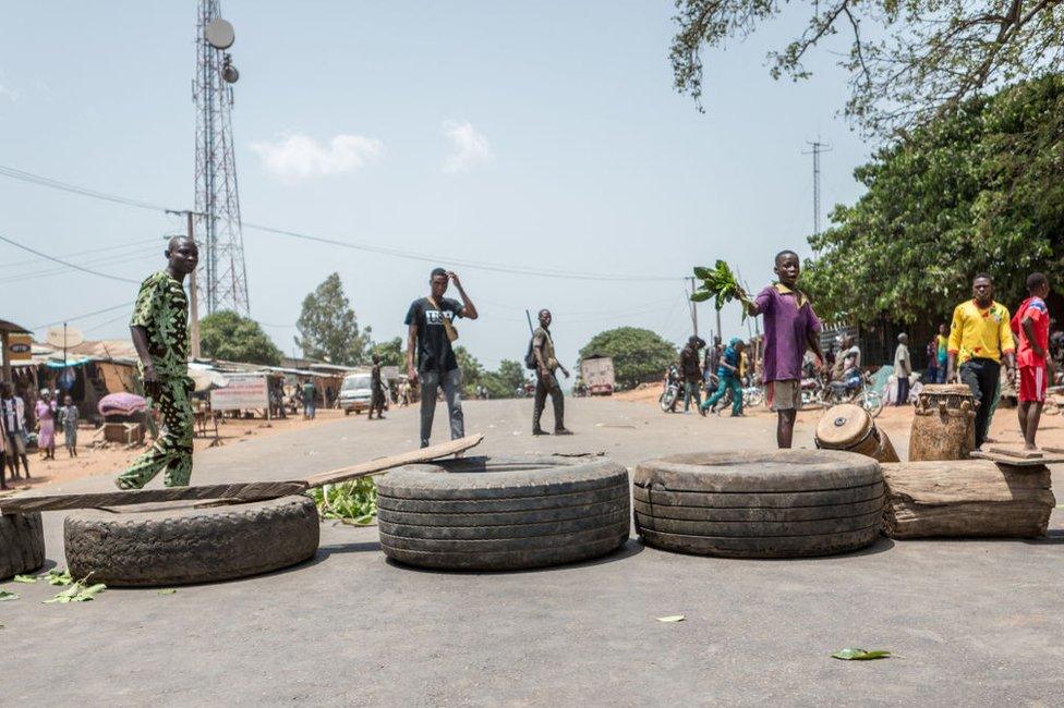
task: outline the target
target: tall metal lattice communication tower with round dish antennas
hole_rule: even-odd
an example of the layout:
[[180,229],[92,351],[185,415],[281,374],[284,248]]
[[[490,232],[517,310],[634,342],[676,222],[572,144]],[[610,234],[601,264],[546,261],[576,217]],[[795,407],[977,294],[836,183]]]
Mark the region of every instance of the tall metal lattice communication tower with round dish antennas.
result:
[[232,26],[219,17],[218,0],[200,0],[196,19],[196,211],[203,246],[201,302],[206,314],[232,309],[247,315],[247,269],[233,155],[232,84],[239,74],[223,51]]

